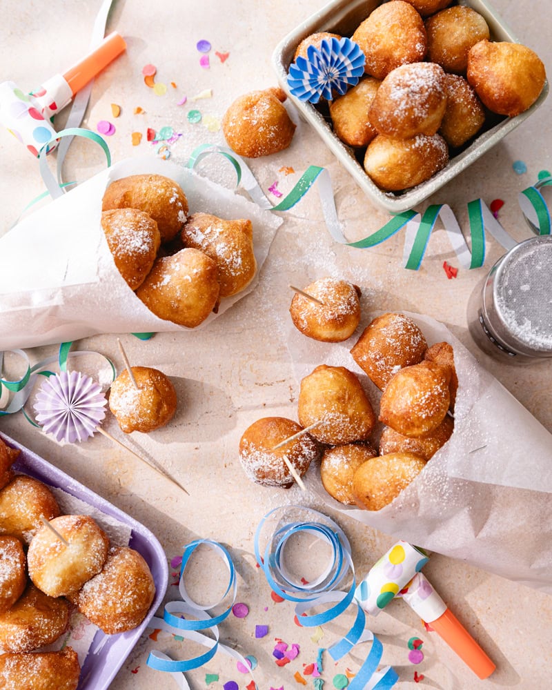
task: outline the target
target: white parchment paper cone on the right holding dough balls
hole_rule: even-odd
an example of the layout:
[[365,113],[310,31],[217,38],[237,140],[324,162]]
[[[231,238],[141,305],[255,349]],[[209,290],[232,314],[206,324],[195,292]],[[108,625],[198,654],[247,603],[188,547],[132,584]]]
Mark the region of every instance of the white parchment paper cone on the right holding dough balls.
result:
[[[454,348],[459,387],[455,429],[418,477],[380,511],[344,506],[326,493],[319,466],[305,480],[326,504],[380,531],[458,558],[484,570],[552,592],[552,435],[546,431],[448,328],[403,312],[431,345]],[[379,413],[380,394],[344,344],[288,333],[297,382],[315,366],[346,366],[359,375]]]

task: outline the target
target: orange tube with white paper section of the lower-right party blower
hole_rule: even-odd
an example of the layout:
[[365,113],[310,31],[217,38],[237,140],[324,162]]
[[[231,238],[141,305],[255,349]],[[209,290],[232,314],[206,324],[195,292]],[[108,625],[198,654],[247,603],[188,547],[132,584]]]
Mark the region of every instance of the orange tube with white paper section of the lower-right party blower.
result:
[[479,678],[491,676],[496,665],[446,606],[425,575],[417,573],[400,595]]

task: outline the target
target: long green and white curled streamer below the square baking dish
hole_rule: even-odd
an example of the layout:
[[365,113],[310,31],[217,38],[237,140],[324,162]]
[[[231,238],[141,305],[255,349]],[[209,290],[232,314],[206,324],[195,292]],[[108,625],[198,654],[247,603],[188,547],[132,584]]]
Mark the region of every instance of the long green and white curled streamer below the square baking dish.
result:
[[[393,216],[384,226],[371,235],[357,240],[357,242],[348,242],[337,217],[331,179],[328,170],[325,168],[308,166],[293,189],[290,190],[284,199],[273,206],[266,195],[264,195],[253,172],[248,168],[244,159],[228,148],[215,144],[202,144],[190,155],[187,167],[191,169],[197,168],[199,162],[211,154],[222,155],[230,161],[236,170],[236,186],[241,184],[251,199],[258,206],[267,210],[290,210],[317,184],[326,227],[335,242],[339,242],[339,244],[358,249],[371,248],[386,242],[386,240],[405,228],[403,266],[410,270],[418,270],[420,268],[431,233],[435,230],[438,219],[441,219],[444,224],[444,228],[449,235],[449,241],[455,250],[460,264],[464,268],[480,268],[484,265],[485,230],[506,250],[513,248],[517,244],[495,219],[491,210],[484,204],[482,199],[475,199],[468,204],[470,246],[464,238],[464,233],[462,233],[453,211],[447,204],[432,204],[426,208],[423,214],[415,210],[404,211]],[[552,178],[540,180],[535,186],[531,186],[520,193],[522,213],[533,232],[540,235],[551,234],[549,209],[539,191],[540,186],[546,184],[552,184]]]

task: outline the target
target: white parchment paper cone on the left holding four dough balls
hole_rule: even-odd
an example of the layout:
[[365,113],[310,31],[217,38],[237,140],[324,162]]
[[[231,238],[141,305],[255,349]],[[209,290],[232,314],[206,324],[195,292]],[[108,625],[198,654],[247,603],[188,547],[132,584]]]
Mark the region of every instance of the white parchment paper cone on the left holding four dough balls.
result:
[[190,213],[247,218],[253,224],[257,276],[241,293],[222,299],[218,313],[198,328],[255,288],[282,219],[170,161],[128,159],[35,211],[0,238],[0,350],[97,333],[189,330],[159,319],[142,304],[115,267],[101,229],[101,198],[110,181],[148,172],[177,181]]

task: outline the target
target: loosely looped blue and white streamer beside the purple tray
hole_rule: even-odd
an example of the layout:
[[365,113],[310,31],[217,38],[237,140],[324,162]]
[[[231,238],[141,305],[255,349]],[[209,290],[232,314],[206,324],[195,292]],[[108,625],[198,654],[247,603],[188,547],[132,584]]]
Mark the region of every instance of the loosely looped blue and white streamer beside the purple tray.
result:
[[[190,598],[188,592],[186,591],[186,584],[184,582],[186,565],[193,555],[193,552],[201,545],[208,546],[210,549],[213,549],[213,551],[218,553],[218,555],[221,556],[226,569],[228,569],[228,585],[226,586],[224,595],[222,595],[219,602],[215,602],[215,604],[207,604],[206,606],[201,606]],[[180,566],[178,589],[181,600],[175,600],[165,604],[163,618],[154,616],[150,621],[150,627],[165,630],[173,635],[180,635],[185,639],[197,642],[204,647],[208,647],[208,651],[192,659],[175,660],[171,659],[163,652],[153,650],[150,652],[148,660],[146,661],[148,667],[157,671],[170,673],[172,677],[175,678],[179,686],[184,690],[189,689],[184,672],[192,671],[193,669],[198,669],[199,667],[203,666],[213,658],[217,651],[222,651],[227,655],[232,656],[236,660],[242,662],[245,668],[250,668],[246,658],[244,658],[242,654],[234,649],[231,649],[226,644],[222,644],[219,640],[218,625],[225,620],[228,615],[230,615],[230,611],[232,611],[237,593],[236,571],[232,557],[230,556],[230,553],[228,553],[227,549],[225,549],[224,546],[218,542],[214,542],[213,540],[209,539],[198,539],[190,542],[190,544],[187,546],[184,546],[182,563]],[[217,607],[217,605],[223,602],[228,595],[231,595],[230,605],[219,615],[210,615],[208,611]],[[182,614],[191,615],[195,618],[195,620],[181,618]],[[213,633],[214,638],[210,638],[207,635],[198,633],[197,631],[199,630],[209,630],[211,633]],[[249,673],[253,677],[251,670]]]

